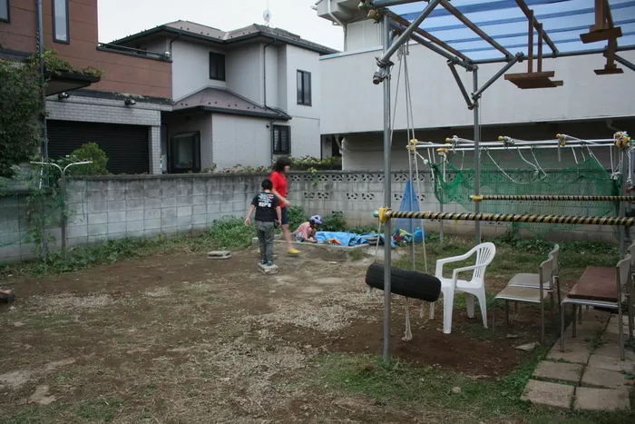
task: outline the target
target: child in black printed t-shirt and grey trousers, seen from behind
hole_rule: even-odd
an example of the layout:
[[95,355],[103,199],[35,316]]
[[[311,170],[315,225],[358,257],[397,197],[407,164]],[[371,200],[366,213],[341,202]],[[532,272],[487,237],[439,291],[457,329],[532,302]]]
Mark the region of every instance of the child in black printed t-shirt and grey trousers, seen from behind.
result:
[[278,197],[271,192],[273,182],[267,179],[262,182],[262,192],[254,197],[245,218],[245,225],[251,223],[251,213],[256,210],[256,230],[258,231],[258,241],[260,244],[260,263],[262,265],[273,266],[273,236],[276,231],[277,222],[282,221],[282,212]]

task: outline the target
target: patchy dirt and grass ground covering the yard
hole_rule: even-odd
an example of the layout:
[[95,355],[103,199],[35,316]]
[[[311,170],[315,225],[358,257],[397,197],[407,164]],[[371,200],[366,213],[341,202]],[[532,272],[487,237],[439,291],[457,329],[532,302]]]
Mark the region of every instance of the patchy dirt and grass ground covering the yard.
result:
[[[383,313],[382,298],[365,294],[363,269],[350,263],[363,259],[364,252],[358,251],[358,258],[357,251],[347,257],[321,250],[282,256],[282,271],[270,278],[256,271],[251,252],[229,261],[204,257],[208,249],[239,249],[251,236],[242,222],[223,221],[197,238],[110,242],[72,251],[47,268],[34,263],[12,268],[23,276],[44,275],[122,262],[38,281],[14,276],[15,286],[24,284],[29,294],[15,303],[15,311],[0,315],[0,325],[12,331],[0,346],[0,365],[6,373],[25,371],[28,382],[0,390],[5,407],[0,423],[409,422],[412,417],[466,424],[635,422],[632,411],[577,414],[521,401],[548,347],[524,361],[519,356],[487,379],[466,374],[473,368],[461,373],[428,366],[435,362],[426,362],[425,355],[384,366],[376,356],[350,353],[380,351],[364,350],[381,338]],[[428,267],[434,270],[436,259],[472,245],[451,237],[429,241]],[[493,293],[513,273],[537,271],[552,249],[545,242],[497,240],[496,245],[487,271],[489,308]],[[586,266],[612,266],[617,260],[617,251],[607,245],[562,243],[561,248],[561,281],[578,278]],[[396,266],[409,268],[409,248],[401,253]],[[423,271],[422,246],[416,254]],[[397,304],[394,325],[400,332]],[[464,296],[456,296],[454,307],[464,310]],[[492,339],[491,329],[481,325],[478,304],[474,312],[475,320],[455,320],[453,334],[443,340],[454,340],[459,356],[470,361],[485,356],[463,353],[464,342],[493,346],[495,352],[507,346],[511,358],[515,340],[505,340],[502,330],[503,339]],[[421,343],[417,331],[435,331],[441,316],[438,307],[435,322],[414,316],[413,333],[419,337],[410,346]],[[534,331],[532,340],[538,337],[534,327],[525,331]],[[588,342],[595,346],[598,340]],[[394,349],[398,354],[407,348]],[[419,359],[422,364],[415,364]],[[489,372],[478,370],[474,374]],[[23,402],[43,384],[54,403]]]

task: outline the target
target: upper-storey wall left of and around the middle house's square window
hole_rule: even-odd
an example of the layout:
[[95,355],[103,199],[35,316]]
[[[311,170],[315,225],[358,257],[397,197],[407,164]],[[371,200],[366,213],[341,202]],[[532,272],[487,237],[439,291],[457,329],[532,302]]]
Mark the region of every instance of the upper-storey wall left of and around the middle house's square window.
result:
[[[210,79],[210,52],[224,54],[203,44],[174,41],[172,44],[172,98],[175,101],[204,87],[227,88],[227,83]],[[226,63],[228,58],[226,57]],[[229,67],[226,74],[229,73]]]

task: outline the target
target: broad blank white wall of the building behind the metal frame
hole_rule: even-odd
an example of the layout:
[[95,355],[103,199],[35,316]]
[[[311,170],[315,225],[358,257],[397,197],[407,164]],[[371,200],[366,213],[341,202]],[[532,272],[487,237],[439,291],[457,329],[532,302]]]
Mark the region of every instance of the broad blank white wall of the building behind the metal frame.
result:
[[[383,88],[374,85],[375,52],[323,57],[321,133],[365,133],[383,130]],[[635,61],[635,52],[620,53]],[[392,79],[393,103],[397,95],[396,75]],[[605,59],[601,55],[562,57],[545,60],[543,69],[555,71],[564,86],[552,89],[520,90],[500,78],[483,95],[481,120],[484,124],[587,120],[597,117],[635,116],[635,103],[625,102],[625,90],[635,93],[635,73],[596,75]],[[484,84],[502,64],[484,64],[478,75]],[[510,73],[526,72],[526,62],[513,66]],[[415,111],[415,127],[467,126],[473,113],[464,103],[445,58],[419,44],[410,46],[410,85]],[[473,91],[472,73],[458,69],[468,92]],[[405,90],[401,78],[396,108],[396,128],[404,129]]]

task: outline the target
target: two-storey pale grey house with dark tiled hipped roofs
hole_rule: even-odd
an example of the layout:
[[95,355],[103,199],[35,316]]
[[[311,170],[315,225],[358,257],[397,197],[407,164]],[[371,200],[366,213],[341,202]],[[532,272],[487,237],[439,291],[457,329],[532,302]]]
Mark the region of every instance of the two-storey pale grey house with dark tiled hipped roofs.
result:
[[278,28],[224,32],[187,21],[112,44],[170,54],[164,173],[269,165],[281,154],[321,156],[319,57],[337,51]]

